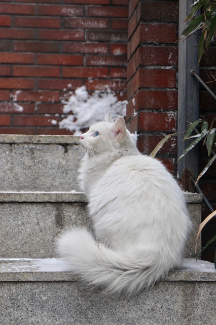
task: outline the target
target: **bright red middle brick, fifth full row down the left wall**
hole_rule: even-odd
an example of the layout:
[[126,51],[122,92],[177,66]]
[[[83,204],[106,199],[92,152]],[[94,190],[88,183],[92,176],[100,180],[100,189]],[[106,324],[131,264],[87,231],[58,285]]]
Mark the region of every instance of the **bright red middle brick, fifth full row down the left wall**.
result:
[[83,55],[37,54],[37,63],[61,66],[82,66]]

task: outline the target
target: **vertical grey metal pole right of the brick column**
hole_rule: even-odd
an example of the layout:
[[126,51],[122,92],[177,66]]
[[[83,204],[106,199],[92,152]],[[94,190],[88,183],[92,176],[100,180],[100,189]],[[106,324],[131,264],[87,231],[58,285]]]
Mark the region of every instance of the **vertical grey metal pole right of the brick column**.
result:
[[[179,1],[179,36],[186,27],[185,18],[190,13],[193,0]],[[179,157],[188,146],[183,141],[188,129],[188,122],[199,118],[199,82],[193,78],[191,71],[198,69],[198,37],[192,34],[186,40],[178,42],[178,119],[177,119],[177,156]],[[198,176],[198,149],[195,147],[177,164],[177,176],[185,190],[194,191],[190,178]]]

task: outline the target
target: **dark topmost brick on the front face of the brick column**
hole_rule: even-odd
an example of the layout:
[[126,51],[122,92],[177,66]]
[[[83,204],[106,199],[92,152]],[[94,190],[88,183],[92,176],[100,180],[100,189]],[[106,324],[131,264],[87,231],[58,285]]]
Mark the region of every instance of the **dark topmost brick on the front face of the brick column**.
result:
[[178,3],[170,1],[142,2],[140,7],[140,17],[143,20],[177,22]]

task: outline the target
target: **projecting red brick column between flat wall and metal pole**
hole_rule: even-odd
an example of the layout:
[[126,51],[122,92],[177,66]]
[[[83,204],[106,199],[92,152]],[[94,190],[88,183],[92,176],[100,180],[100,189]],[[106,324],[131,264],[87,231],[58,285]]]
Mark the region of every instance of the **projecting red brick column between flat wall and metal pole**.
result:
[[[177,1],[130,0],[126,121],[143,153],[176,131],[177,24]],[[174,170],[175,137],[158,156]]]

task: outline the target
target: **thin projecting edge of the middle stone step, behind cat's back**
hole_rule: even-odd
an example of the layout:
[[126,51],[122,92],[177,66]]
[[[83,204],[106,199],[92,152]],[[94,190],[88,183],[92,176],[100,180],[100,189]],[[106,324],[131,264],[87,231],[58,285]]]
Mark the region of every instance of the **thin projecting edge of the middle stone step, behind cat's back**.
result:
[[[184,192],[187,203],[202,203],[202,194]],[[0,191],[0,202],[87,202],[83,192]]]

